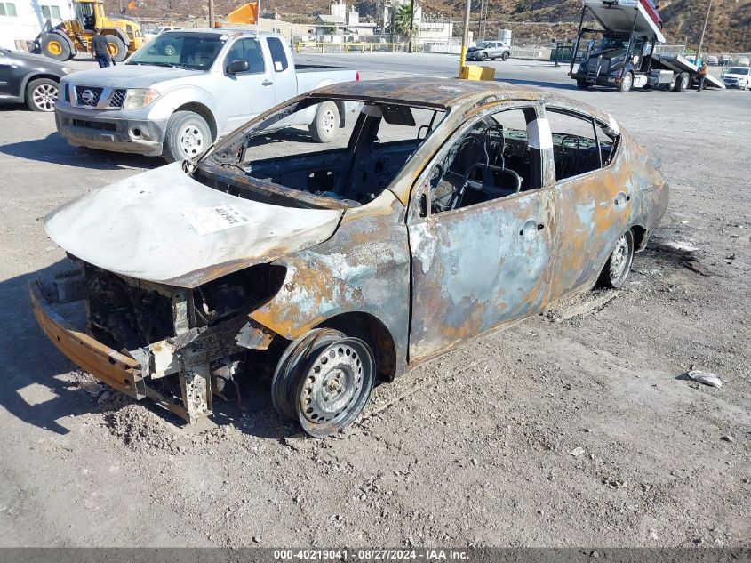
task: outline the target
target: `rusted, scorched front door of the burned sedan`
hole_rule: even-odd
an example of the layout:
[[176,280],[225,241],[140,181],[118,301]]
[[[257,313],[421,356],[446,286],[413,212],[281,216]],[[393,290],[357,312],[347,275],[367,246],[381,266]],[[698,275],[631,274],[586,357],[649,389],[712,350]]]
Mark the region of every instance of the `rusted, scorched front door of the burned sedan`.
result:
[[[538,138],[530,129],[537,123],[535,109],[515,109],[526,114],[524,134],[530,140]],[[496,116],[498,112],[496,109]],[[486,113],[481,120],[490,115]],[[408,213],[411,362],[526,317],[547,302],[555,224],[552,186],[542,186],[539,147],[531,150],[531,159],[523,158],[536,178],[532,183],[525,180],[527,189],[474,205],[435,210],[435,186],[441,183],[435,180],[436,174],[441,178],[447,175],[445,171],[452,165],[446,165],[445,159],[451,158],[452,152],[460,153],[461,149],[455,149],[457,143],[465,143],[481,120],[475,119],[475,125],[465,125],[452,135],[412,190]]]

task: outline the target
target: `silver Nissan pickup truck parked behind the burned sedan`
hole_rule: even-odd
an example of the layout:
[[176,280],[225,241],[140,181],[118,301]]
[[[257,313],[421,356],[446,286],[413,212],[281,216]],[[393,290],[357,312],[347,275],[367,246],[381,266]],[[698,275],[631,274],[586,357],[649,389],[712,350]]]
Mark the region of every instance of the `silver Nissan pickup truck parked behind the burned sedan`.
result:
[[[299,93],[358,80],[348,68],[295,67],[284,37],[247,30],[169,31],[123,65],[77,72],[61,82],[60,134],[93,149],[197,157],[220,136]],[[315,141],[343,127],[345,108],[328,101],[296,119]]]

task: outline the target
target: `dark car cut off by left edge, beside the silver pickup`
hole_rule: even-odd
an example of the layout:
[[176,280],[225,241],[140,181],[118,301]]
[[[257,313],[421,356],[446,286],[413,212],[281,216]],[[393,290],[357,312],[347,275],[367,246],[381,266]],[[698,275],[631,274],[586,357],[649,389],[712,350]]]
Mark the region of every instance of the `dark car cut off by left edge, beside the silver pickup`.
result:
[[60,79],[73,72],[57,60],[0,49],[0,101],[25,103],[33,111],[54,111]]

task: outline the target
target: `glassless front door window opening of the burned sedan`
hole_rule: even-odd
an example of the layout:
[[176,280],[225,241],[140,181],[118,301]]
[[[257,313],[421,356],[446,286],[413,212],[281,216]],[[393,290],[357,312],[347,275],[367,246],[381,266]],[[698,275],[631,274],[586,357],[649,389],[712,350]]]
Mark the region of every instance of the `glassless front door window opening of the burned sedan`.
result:
[[429,177],[431,213],[443,213],[541,187],[539,148],[528,127],[533,108],[480,119],[455,141]]

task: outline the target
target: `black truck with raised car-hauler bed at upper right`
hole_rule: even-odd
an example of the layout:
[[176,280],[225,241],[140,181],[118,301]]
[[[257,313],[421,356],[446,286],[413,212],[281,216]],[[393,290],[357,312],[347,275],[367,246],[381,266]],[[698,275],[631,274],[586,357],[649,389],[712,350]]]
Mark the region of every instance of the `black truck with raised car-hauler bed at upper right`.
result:
[[[601,28],[584,27],[587,13]],[[699,80],[697,64],[683,55],[655,52],[657,44],[665,43],[660,22],[648,0],[584,0],[573,52],[579,52],[582,37],[587,34],[598,34],[602,38],[599,46],[587,52],[586,59],[576,70],[576,61],[571,59],[569,76],[576,80],[580,90],[605,86],[619,92],[633,88],[683,92],[690,88]],[[725,87],[711,75],[707,75],[705,85]]]

